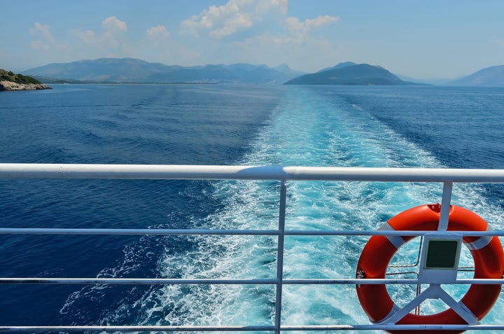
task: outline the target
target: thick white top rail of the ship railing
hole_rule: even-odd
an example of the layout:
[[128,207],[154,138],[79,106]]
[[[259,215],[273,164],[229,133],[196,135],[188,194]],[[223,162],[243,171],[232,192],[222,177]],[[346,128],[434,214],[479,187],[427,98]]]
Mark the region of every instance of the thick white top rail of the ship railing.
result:
[[184,179],[504,183],[504,169],[0,164],[0,179]]

